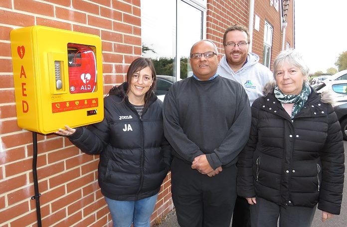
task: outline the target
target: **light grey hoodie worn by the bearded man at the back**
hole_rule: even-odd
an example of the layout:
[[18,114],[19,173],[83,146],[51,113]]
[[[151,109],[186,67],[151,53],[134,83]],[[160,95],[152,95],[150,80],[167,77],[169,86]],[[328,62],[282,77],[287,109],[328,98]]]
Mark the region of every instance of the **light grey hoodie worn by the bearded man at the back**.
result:
[[263,86],[274,79],[269,68],[259,63],[259,56],[251,52],[247,55],[247,63],[237,72],[230,68],[224,55],[219,62],[217,74],[242,84],[251,105],[255,99],[263,96]]

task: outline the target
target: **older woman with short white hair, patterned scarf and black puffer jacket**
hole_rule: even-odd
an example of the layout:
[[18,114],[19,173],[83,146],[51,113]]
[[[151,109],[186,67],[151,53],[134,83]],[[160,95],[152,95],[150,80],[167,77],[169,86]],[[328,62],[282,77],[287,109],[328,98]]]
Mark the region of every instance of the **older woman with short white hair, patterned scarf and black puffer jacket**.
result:
[[251,205],[252,227],[310,227],[339,215],[344,145],[327,93],[308,85],[309,69],[295,50],[274,62],[276,83],[252,105],[249,141],[239,155],[238,194]]

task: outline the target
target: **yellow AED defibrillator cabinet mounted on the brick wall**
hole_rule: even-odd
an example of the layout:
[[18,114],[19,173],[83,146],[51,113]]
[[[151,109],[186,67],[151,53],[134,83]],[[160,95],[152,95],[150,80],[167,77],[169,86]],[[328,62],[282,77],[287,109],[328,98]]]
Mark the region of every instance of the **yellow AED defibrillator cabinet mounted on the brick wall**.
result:
[[103,120],[99,36],[36,25],[10,40],[20,128],[48,134]]

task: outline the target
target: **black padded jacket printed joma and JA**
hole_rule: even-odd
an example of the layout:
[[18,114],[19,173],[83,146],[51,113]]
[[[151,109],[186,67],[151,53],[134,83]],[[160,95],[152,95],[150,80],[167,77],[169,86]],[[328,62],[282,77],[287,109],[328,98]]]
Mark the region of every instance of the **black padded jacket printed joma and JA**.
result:
[[77,128],[69,139],[85,153],[100,154],[103,195],[136,201],[159,192],[172,158],[164,137],[163,102],[153,93],[140,119],[125,95],[127,87],[125,82],[110,90],[102,122]]

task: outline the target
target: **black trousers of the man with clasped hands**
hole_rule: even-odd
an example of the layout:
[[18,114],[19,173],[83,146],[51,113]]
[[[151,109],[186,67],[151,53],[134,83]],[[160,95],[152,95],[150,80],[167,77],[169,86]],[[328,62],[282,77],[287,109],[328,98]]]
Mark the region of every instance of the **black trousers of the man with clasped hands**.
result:
[[230,227],[236,199],[236,165],[208,177],[174,158],[172,197],[180,227]]

